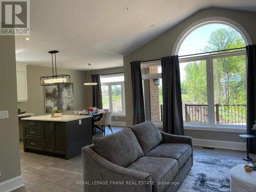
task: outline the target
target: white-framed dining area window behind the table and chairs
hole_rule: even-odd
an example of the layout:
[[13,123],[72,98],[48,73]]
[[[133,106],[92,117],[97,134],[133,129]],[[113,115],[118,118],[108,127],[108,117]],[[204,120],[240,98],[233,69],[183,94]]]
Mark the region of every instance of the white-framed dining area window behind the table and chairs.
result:
[[114,115],[125,115],[123,73],[101,75],[100,82],[103,109],[112,111]]

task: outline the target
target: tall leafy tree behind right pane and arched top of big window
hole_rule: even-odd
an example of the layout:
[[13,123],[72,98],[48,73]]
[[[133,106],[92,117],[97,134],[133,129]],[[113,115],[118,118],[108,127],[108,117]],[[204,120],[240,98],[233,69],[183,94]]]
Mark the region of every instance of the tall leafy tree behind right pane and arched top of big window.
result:
[[[204,48],[205,52],[241,48],[245,46],[245,41],[236,30],[230,27],[212,32],[208,44]],[[241,86],[245,86],[244,61],[244,56],[214,59],[215,102],[229,104],[230,99],[236,102],[244,100],[238,98],[238,95],[244,97],[245,93],[236,92],[236,87],[239,89]],[[240,92],[244,92],[244,90],[240,89]]]

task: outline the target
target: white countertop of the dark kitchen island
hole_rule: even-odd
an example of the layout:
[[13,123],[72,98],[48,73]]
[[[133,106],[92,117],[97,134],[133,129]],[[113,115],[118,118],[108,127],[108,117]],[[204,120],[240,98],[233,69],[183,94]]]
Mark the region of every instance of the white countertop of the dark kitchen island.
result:
[[68,122],[79,119],[90,118],[90,115],[61,115],[61,117],[53,117],[51,115],[41,115],[35,117],[26,117],[22,118],[22,120],[31,120],[31,121],[59,121],[59,122]]

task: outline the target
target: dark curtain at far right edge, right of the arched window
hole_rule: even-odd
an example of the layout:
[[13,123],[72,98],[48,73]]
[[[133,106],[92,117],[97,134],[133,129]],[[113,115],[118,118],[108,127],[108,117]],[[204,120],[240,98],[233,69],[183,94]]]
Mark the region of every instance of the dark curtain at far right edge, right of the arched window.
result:
[[[256,45],[246,46],[247,53],[247,134],[255,135],[251,130],[256,120]],[[250,153],[256,153],[256,139],[249,139]]]

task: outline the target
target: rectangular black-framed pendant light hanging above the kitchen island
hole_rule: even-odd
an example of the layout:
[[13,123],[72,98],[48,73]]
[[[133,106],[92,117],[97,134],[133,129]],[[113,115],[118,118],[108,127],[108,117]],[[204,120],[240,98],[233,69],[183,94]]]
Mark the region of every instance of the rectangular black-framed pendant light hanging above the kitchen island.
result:
[[[52,75],[40,77],[41,86],[51,86],[53,84],[69,84],[70,75],[57,75],[56,53],[58,53],[58,51],[49,51],[48,53],[52,55]],[[53,67],[53,54],[54,54],[54,61],[55,61],[55,74],[54,74],[54,67]]]

